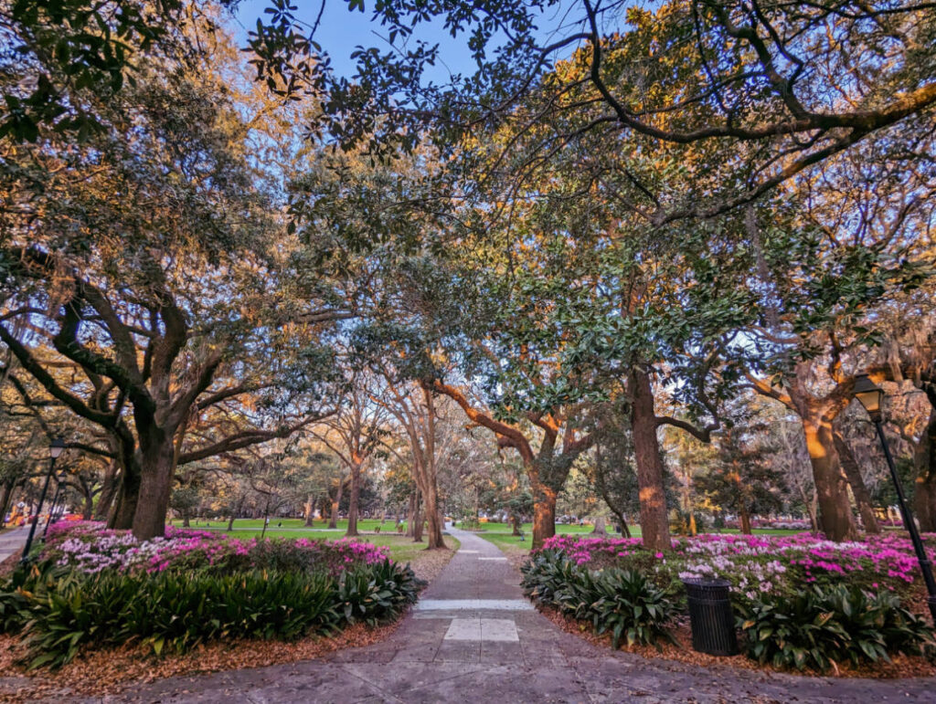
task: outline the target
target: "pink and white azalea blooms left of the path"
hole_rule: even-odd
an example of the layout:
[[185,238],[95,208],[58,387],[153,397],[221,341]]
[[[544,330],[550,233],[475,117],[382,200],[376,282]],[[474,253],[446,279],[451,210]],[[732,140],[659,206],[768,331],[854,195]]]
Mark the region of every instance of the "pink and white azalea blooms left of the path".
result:
[[225,574],[245,569],[327,571],[337,575],[357,565],[388,559],[388,548],[342,539],[236,539],[206,530],[168,527],[165,538],[140,541],[127,531],[93,522],[49,527],[42,559],[86,574],[104,570],[155,573],[196,570]]

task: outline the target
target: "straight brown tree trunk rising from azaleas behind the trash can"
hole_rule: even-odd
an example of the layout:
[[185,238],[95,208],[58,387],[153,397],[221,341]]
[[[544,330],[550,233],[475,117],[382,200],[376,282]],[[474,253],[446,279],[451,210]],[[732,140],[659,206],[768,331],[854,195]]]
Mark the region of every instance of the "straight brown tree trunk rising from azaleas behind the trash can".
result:
[[669,550],[669,522],[666,520],[666,496],[663,484],[663,458],[656,437],[656,413],[650,377],[639,369],[631,371],[628,380],[632,396],[631,429],[634,434],[634,454],[640,529],[647,550]]

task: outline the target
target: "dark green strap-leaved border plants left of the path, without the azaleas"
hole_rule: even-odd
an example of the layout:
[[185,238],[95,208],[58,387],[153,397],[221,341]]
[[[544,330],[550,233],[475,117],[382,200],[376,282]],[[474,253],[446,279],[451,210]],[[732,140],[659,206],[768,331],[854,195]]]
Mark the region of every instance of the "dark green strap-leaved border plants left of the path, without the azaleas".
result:
[[411,568],[388,560],[338,580],[303,571],[83,577],[33,568],[0,592],[0,616],[7,632],[25,635],[30,668],[56,668],[92,644],[140,642],[158,655],[215,639],[288,640],[375,624],[415,603],[422,586]]

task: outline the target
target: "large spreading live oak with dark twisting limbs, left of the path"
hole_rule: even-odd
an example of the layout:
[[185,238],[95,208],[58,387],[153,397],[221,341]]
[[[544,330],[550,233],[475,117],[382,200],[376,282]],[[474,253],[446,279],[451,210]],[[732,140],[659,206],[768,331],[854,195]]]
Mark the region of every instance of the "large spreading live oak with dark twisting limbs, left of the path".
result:
[[[162,534],[179,464],[324,410],[328,315],[278,309],[286,252],[271,242],[285,230],[248,164],[249,126],[218,73],[187,68],[154,61],[119,94],[76,87],[103,125],[81,146],[55,130],[0,144],[0,340],[104,431],[121,474],[111,523],[139,538]],[[50,371],[62,366],[66,381]]]

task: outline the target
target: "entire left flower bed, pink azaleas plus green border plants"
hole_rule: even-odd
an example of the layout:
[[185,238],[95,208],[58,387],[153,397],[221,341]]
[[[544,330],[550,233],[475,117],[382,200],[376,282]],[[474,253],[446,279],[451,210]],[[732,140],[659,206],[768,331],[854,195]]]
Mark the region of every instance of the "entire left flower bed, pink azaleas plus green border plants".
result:
[[0,625],[22,636],[24,664],[59,667],[91,645],[183,653],[217,639],[376,625],[415,603],[422,585],[386,549],[351,540],[170,529],[138,541],[99,524],[59,524],[0,587]]

